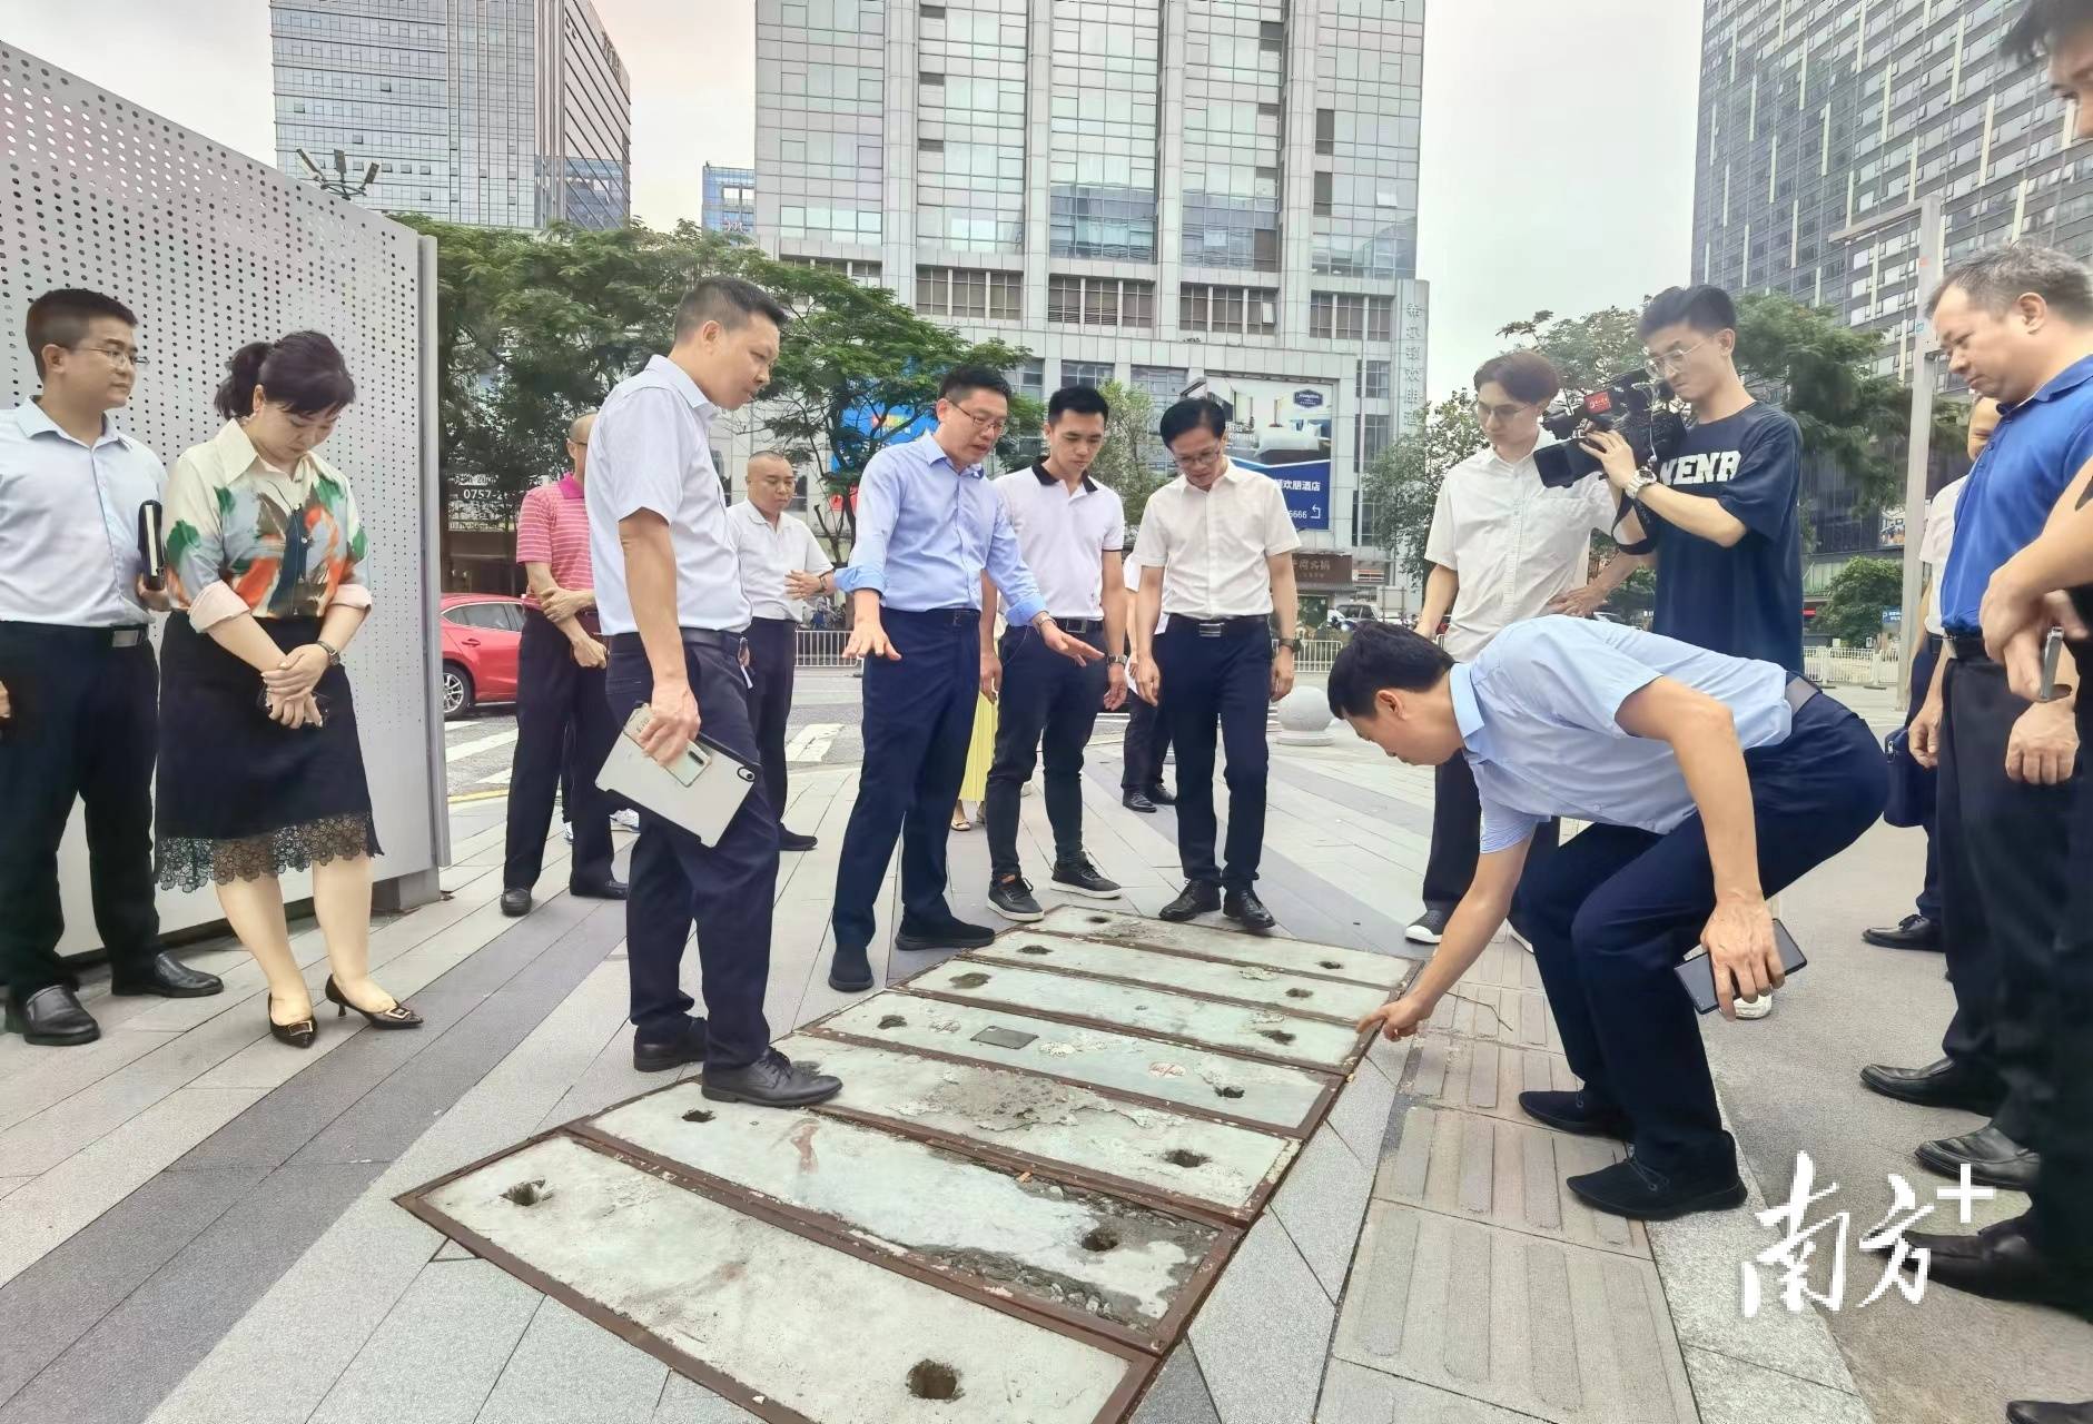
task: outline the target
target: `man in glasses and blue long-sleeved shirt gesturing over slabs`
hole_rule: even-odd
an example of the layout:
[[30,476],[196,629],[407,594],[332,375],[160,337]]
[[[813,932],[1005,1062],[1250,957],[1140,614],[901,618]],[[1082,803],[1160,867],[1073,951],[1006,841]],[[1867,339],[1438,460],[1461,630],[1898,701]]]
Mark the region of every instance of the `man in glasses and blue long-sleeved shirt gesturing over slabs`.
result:
[[[1011,385],[959,366],[938,390],[938,429],[879,450],[858,482],[858,530],[837,586],[854,626],[843,658],[864,660],[864,771],[835,867],[829,986],[873,986],[873,903],[902,842],[896,949],[980,949],[994,930],[952,913],[944,844],[967,771],[982,691],[980,626],[1000,591],[1013,628],[1076,666],[1105,653],[1055,626],[982,461],[1011,419]],[[984,582],[986,574],[986,582]]]

